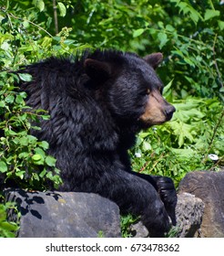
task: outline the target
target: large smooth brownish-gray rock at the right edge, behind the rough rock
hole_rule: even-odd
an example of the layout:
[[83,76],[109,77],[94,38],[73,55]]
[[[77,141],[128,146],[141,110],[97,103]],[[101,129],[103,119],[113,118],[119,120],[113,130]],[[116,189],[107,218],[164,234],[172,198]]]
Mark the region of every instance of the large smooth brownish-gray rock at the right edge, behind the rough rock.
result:
[[201,237],[224,237],[224,172],[198,171],[185,176],[179,193],[188,192],[205,203]]

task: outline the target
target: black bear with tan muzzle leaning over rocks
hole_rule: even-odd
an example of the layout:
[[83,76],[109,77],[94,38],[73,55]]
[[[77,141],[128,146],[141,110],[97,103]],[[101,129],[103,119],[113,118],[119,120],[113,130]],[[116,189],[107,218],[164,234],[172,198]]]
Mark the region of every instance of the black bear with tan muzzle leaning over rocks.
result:
[[97,193],[121,212],[141,215],[150,237],[175,224],[177,196],[168,177],[131,170],[127,150],[141,129],[165,123],[175,108],[161,93],[155,72],[161,53],[141,59],[115,50],[85,51],[81,57],[50,58],[19,72],[27,105],[49,112],[34,132],[50,144],[61,170],[61,191]]

